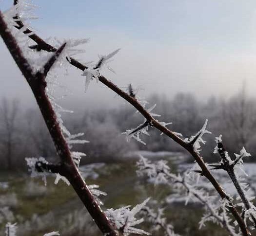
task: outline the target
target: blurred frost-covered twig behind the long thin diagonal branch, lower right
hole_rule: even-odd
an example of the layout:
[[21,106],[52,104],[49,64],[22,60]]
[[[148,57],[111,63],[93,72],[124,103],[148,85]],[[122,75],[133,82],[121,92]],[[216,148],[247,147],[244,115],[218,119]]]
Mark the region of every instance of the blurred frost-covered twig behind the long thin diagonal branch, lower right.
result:
[[197,166],[184,172],[182,175],[171,173],[170,168],[164,161],[152,163],[146,158],[141,157],[137,162],[137,166],[137,173],[139,176],[146,175],[149,178],[149,181],[155,184],[165,183],[172,186],[173,190],[176,190],[179,193],[177,198],[180,198],[180,194],[185,193],[185,204],[189,201],[200,202],[203,204],[206,213],[199,223],[200,227],[204,226],[206,221],[213,221],[220,224],[222,227],[225,227],[230,235],[239,235],[235,232],[234,226],[231,225],[231,219],[227,213],[228,211],[225,211],[227,204],[225,206],[219,204],[217,196],[209,195],[209,190],[207,188],[204,189],[203,187],[198,187],[200,174],[197,172]]

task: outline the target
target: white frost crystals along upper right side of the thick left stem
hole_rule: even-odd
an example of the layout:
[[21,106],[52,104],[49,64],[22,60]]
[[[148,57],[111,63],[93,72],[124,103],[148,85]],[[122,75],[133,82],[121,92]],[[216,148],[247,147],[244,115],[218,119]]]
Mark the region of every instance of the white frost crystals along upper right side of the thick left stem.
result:
[[[23,55],[28,60],[28,63],[30,67],[32,68],[34,73],[42,72],[44,65],[46,62],[55,54],[54,52],[45,52],[43,50],[36,51],[29,48],[30,46],[30,39],[28,36],[30,34],[23,34],[23,32],[30,28],[29,25],[26,23],[27,19],[35,18],[32,15],[33,10],[35,9],[35,5],[31,3],[30,0],[19,0],[18,3],[14,6],[12,6],[9,10],[5,11],[3,13],[4,19],[6,23],[8,24],[8,28],[11,31],[11,33],[15,36]],[[15,19],[15,17],[18,16],[18,19]],[[24,26],[18,30],[13,26],[19,26],[15,21],[22,20]],[[34,33],[31,33],[34,34]],[[69,130],[63,125],[63,120],[61,118],[62,112],[73,112],[70,110],[63,109],[61,106],[59,106],[56,103],[56,98],[54,96],[55,88],[54,86],[58,86],[57,83],[57,77],[58,73],[55,69],[61,68],[66,69],[65,67],[69,66],[70,64],[68,61],[70,61],[70,56],[73,56],[78,53],[83,53],[83,50],[77,49],[77,47],[81,44],[87,43],[88,39],[82,38],[82,39],[64,39],[59,40],[57,38],[48,38],[46,39],[46,43],[49,42],[52,45],[54,45],[55,48],[59,48],[64,42],[66,43],[64,50],[61,52],[61,54],[58,57],[58,60],[54,63],[53,67],[51,68],[51,71],[47,74],[46,82],[47,87],[45,88],[46,94],[56,112],[57,121],[59,123],[59,126],[61,128],[62,134],[65,136],[68,144],[70,147],[71,144],[84,144],[87,141],[85,140],[78,140],[75,139],[76,137],[81,136],[81,134],[72,135]],[[67,60],[68,59],[68,60]],[[80,155],[80,157],[83,155]],[[76,156],[77,157],[77,156]]]

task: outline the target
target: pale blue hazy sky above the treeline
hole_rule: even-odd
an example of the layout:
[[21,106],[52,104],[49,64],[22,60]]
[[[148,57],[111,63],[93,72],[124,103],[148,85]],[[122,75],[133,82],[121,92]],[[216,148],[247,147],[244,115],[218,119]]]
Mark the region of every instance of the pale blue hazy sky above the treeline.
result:
[[[12,0],[0,1],[5,9]],[[255,0],[34,0],[40,36],[90,38],[82,61],[98,54],[121,51],[111,63],[116,74],[105,72],[119,86],[132,83],[172,96],[178,91],[230,96],[246,80],[256,89]],[[34,102],[28,86],[0,40],[0,96]],[[95,82],[83,93],[81,72],[59,78],[67,86],[70,104],[96,101],[104,106],[119,101]],[[70,105],[71,106],[71,105]]]

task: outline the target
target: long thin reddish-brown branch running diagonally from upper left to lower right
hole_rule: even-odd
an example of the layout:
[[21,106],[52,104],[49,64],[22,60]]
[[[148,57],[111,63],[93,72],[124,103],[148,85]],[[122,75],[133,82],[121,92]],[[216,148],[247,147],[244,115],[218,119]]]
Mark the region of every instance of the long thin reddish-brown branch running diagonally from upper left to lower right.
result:
[[[19,26],[16,27],[17,29],[21,29],[22,26],[24,26],[22,21],[17,21],[17,23],[19,25]],[[24,34],[29,34],[28,37],[30,37],[32,40],[34,40],[37,43],[37,45],[33,46],[33,49],[37,49],[38,51],[44,50],[44,51],[47,51],[47,52],[56,52],[57,51],[57,49],[55,47],[46,43],[38,35],[31,34],[32,31],[30,29],[27,29],[23,33]],[[74,67],[78,68],[81,71],[84,71],[84,70],[88,69],[88,67],[84,66],[83,64],[81,64],[79,61],[77,61],[76,59],[74,59],[72,57],[70,57],[68,59],[68,61],[71,65],[73,65]],[[138,102],[138,100],[136,99],[136,97],[134,95],[130,95],[130,94],[126,93],[125,91],[122,91],[121,89],[118,88],[118,86],[116,86],[114,83],[109,81],[103,75],[100,75],[98,77],[98,80],[101,83],[103,83],[105,86],[107,86],[109,89],[116,92],[120,97],[125,99],[127,102],[129,102],[134,108],[136,108],[144,116],[144,118],[148,122],[150,122],[150,124],[153,127],[157,128],[159,131],[161,131],[162,133],[164,133],[165,135],[170,137],[173,141],[175,141],[178,145],[185,148],[194,157],[194,159],[196,160],[196,162],[198,163],[198,165],[201,168],[201,175],[205,176],[212,183],[212,185],[215,187],[216,191],[218,192],[219,196],[222,199],[226,199],[226,200],[229,201],[229,210],[233,214],[234,218],[236,219],[236,221],[237,221],[237,223],[238,223],[238,225],[241,229],[242,234],[244,236],[250,235],[250,232],[248,231],[243,219],[240,217],[238,211],[236,210],[236,207],[234,206],[234,204],[232,202],[232,199],[230,198],[230,196],[228,194],[225,193],[222,186],[217,182],[215,177],[211,174],[207,165],[203,161],[202,157],[194,150],[193,143],[190,144],[190,143],[184,142],[174,132],[172,132],[171,130],[169,130],[165,126],[161,125],[158,122],[158,120],[156,120],[146,109],[144,109],[144,107]]]

